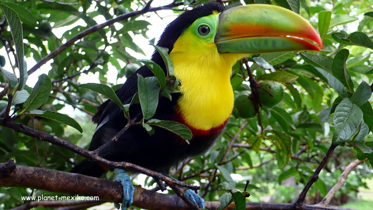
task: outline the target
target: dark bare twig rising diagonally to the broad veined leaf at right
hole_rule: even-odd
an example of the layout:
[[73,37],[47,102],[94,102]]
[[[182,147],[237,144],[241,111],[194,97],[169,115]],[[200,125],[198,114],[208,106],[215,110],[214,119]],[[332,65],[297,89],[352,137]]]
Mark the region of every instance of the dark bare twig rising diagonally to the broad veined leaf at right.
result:
[[323,157],[323,160],[321,161],[321,163],[319,164],[319,166],[317,167],[313,175],[310,176],[310,179],[308,180],[307,184],[304,186],[301,194],[299,195],[297,202],[294,203],[294,207],[296,209],[304,209],[304,199],[305,199],[305,196],[307,195],[308,190],[311,188],[312,184],[315,183],[317,179],[319,179],[319,173],[321,172],[323,167],[326,165],[327,161],[332,156],[332,153],[337,146],[338,145],[334,145],[334,144],[330,145],[328,151]]

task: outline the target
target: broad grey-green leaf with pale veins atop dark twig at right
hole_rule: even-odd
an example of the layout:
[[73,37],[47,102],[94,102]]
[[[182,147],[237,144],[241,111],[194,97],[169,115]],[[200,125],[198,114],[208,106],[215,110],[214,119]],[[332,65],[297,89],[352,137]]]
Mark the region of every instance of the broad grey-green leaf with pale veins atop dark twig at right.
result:
[[363,120],[363,112],[361,109],[352,104],[350,99],[345,98],[338,104],[334,112],[335,134],[333,136],[333,144],[339,145],[350,139]]

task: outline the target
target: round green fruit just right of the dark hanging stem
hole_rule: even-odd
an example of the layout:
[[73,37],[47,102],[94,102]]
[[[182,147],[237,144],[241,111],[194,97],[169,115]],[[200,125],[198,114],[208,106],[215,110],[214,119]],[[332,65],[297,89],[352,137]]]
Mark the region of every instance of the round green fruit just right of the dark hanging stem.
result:
[[283,88],[282,84],[274,81],[262,80],[259,84],[263,86],[272,96],[270,96],[265,90],[258,87],[260,103],[262,106],[272,107],[278,104],[283,99]]

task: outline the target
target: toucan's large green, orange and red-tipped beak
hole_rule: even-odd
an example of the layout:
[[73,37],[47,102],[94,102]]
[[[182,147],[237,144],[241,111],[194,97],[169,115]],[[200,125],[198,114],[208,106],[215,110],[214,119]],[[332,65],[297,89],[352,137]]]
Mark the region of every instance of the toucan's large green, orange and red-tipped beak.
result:
[[219,53],[248,54],[323,47],[319,34],[302,16],[269,4],[248,4],[220,13],[215,44]]

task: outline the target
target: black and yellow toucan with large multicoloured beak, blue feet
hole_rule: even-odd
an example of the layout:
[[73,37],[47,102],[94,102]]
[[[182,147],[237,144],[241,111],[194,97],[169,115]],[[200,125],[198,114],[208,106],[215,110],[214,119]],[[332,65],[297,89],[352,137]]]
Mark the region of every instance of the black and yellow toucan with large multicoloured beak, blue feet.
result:
[[[153,118],[172,120],[189,127],[189,144],[172,132],[154,127],[149,135],[141,126],[130,127],[114,144],[99,155],[112,161],[126,161],[164,172],[179,161],[201,154],[213,145],[231,116],[234,102],[230,78],[232,66],[253,53],[317,50],[322,40],[304,18],[291,10],[268,4],[248,4],[225,10],[211,1],[187,10],[164,29],[157,43],[168,48],[174,72],[181,80],[172,99],[159,98]],[[152,58],[166,72],[162,56]],[[116,91],[123,104],[129,104],[138,92],[138,74],[154,76],[146,66],[129,76]],[[141,115],[139,104],[131,106],[131,118]],[[126,125],[123,111],[112,101],[98,108],[93,121],[98,126],[89,149],[94,150],[115,136]],[[105,170],[84,161],[74,173],[101,176]],[[119,178],[118,178],[119,177]],[[133,202],[134,187],[123,170],[115,179],[123,185],[122,209]],[[188,190],[185,195],[200,208],[203,199]]]

